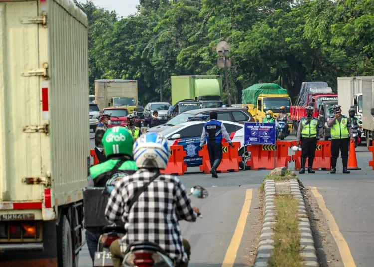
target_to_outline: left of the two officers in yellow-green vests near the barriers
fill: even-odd
[[[301,170],[300,174],[305,173],[305,163],[308,158],[308,173],[316,173],[313,170],[313,160],[317,148],[317,140],[323,135],[322,125],[317,118],[312,117],[314,108],[306,107],[307,116],[300,119],[299,127],[296,134],[296,144],[301,140]],[[301,136],[301,138],[300,138]]]

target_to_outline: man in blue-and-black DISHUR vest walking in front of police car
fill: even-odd
[[[204,124],[202,129],[200,149],[204,146],[205,142],[208,144],[209,160],[210,160],[210,173],[213,178],[218,178],[217,168],[222,160],[222,139],[223,137],[234,147],[230,136],[227,133],[226,127],[220,121],[217,121],[218,114],[213,111],[209,114],[210,121]]]

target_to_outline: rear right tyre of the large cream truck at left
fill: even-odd
[[[73,246],[71,228],[65,215],[62,215],[57,228],[57,255],[59,267],[73,266]]]

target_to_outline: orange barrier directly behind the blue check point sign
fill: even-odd
[[[279,167],[288,167],[288,162],[292,157],[288,155],[292,141],[276,141],[276,144],[252,144],[248,146],[251,152],[251,159],[247,161],[247,166],[251,170],[272,170]]]

